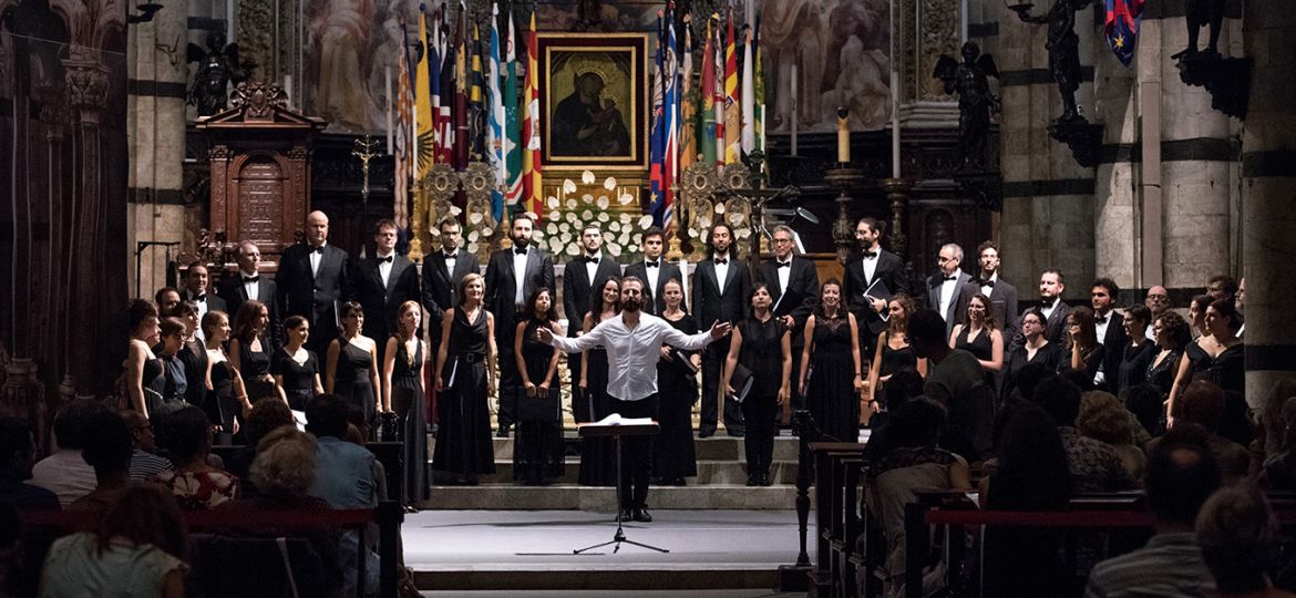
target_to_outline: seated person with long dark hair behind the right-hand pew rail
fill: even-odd
[[[1019,409],[1003,431],[999,467],[981,479],[981,504],[997,511],[1060,511],[1072,497],[1072,474],[1058,423],[1036,405]],[[1055,595],[1065,579],[1056,529],[988,527],[986,597]]]

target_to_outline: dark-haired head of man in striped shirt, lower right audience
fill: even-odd
[[[1191,527],[1201,505],[1220,488],[1220,465],[1196,441],[1177,441],[1172,436],[1175,430],[1148,454],[1143,485],[1159,522]]]

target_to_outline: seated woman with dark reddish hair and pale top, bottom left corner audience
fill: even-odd
[[[170,494],[154,485],[132,485],[104,513],[95,532],[54,541],[40,595],[180,598],[188,571],[184,536],[180,509]]]

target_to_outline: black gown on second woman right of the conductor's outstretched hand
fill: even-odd
[[[806,406],[819,430],[842,443],[859,439],[859,395],[850,353],[850,321],[815,316]]]

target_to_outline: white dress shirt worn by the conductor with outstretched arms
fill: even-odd
[[[697,351],[712,342],[712,331],[688,335],[665,320],[639,313],[639,325],[626,326],[625,316],[599,322],[577,338],[553,337],[553,346],[579,353],[597,346],[608,351],[608,393],[622,401],[638,401],[657,392],[657,361],[662,343],[684,351]]]

